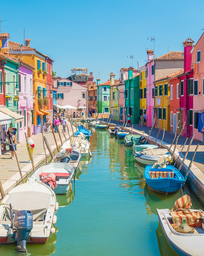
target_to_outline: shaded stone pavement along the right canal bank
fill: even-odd
[[[100,119],[99,119],[100,121]],[[107,122],[107,118],[104,118],[104,121],[103,122]],[[117,121],[115,120],[111,120],[110,123],[113,123],[113,124],[116,124]],[[123,126],[123,122],[119,122],[119,126]],[[128,125],[126,126],[128,127]],[[130,124],[130,128],[132,128],[132,124]],[[141,127],[140,124],[134,124],[133,125],[133,129],[136,129],[136,130],[139,130],[140,132],[145,132],[144,135],[148,136],[149,135],[149,132],[151,130],[152,127]],[[157,134],[159,132],[159,129],[157,128],[154,128],[152,129],[152,132],[150,134],[150,136],[152,137],[157,137]],[[165,131],[164,133],[164,140],[163,140],[163,143],[167,143],[167,144],[171,144],[172,143],[172,140],[174,139],[174,136],[175,134],[169,132],[169,131]],[[163,130],[160,130],[160,133],[159,133],[159,136],[158,136],[158,139],[159,140],[162,140],[162,137],[163,137]],[[185,137],[182,137],[180,136],[179,139],[178,139],[178,144],[176,146],[176,148],[180,151],[183,147],[183,144],[185,143],[186,141],[186,138]],[[182,154],[185,155],[186,154],[186,150],[188,148],[188,145],[189,145],[189,142],[191,141],[191,138],[189,138],[186,142],[186,145],[185,145],[185,148],[183,149],[182,151]],[[174,143],[176,142],[176,139],[174,141]],[[193,153],[196,149],[196,146],[197,144],[199,143],[199,147],[198,147],[198,150],[197,150],[197,153],[196,153],[196,156],[194,158],[194,165],[196,165],[203,173],[204,173],[204,142],[200,141],[200,140],[196,140],[194,139],[192,144],[191,144],[191,148],[189,150],[189,153],[187,155],[187,158],[189,160],[191,160],[192,156],[193,156]],[[174,144],[173,144],[174,145]],[[173,147],[173,146],[172,146]],[[171,148],[172,149],[172,148]]]

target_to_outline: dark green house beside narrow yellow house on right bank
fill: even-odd
[[[131,123],[137,123],[140,117],[140,74],[132,77],[132,69],[128,70],[128,79],[125,80],[125,108],[130,114]]]

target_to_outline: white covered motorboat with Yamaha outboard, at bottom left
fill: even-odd
[[[0,204],[0,244],[13,244],[16,239],[16,250],[24,253],[26,242],[45,244],[50,233],[55,233],[52,225],[57,221],[57,209],[55,193],[44,183],[16,186]]]

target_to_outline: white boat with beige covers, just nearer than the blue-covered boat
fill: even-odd
[[[81,139],[81,137],[72,137],[71,140],[67,140],[63,143],[60,151],[64,151],[68,148],[78,151],[82,157],[87,157],[89,155],[90,144],[87,139]]]

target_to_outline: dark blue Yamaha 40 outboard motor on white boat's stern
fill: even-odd
[[[29,210],[21,210],[13,213],[10,204],[11,212],[11,228],[13,229],[13,240],[16,244],[15,251],[27,253],[26,239],[33,228],[33,214]]]

